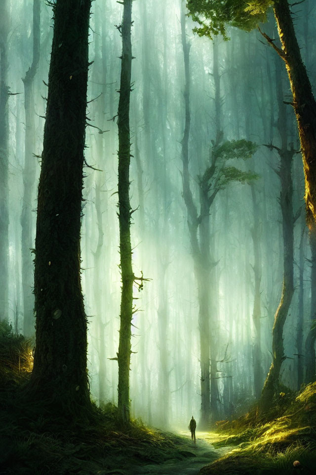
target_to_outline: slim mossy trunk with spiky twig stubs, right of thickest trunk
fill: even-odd
[[[118,345],[118,411],[122,421],[127,423],[130,418],[129,366],[134,282],[130,241],[131,207],[129,202],[132,0],[124,0],[123,8],[123,20],[119,27],[122,35],[122,55],[118,103],[118,220],[120,271],[122,276]]]

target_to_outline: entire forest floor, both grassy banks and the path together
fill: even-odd
[[[316,473],[316,382],[282,389],[269,414],[256,408],[213,432],[163,432],[132,421],[117,408],[92,406],[92,417],[57,416],[23,387],[32,351],[0,322],[0,475],[302,475]],[[293,462],[301,468],[294,469]]]

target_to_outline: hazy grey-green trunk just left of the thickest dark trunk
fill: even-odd
[[[33,1],[33,61],[22,79],[24,84],[25,109],[25,161],[23,168],[23,201],[21,214],[22,228],[22,291],[23,291],[23,330],[25,336],[34,333],[33,297],[33,255],[32,199],[36,178],[37,159],[34,156],[36,145],[35,110],[33,83],[40,61],[40,0]]]

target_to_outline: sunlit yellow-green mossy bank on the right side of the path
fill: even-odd
[[[221,422],[217,429],[215,447],[236,448],[224,457],[204,467],[201,474],[291,474],[293,462],[299,460],[304,474],[315,473],[316,466],[316,382],[294,395],[282,399],[274,418],[259,417],[253,408],[233,422]],[[281,415],[280,415],[281,414]],[[212,433],[214,437],[214,433]]]

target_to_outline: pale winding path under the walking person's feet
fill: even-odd
[[[183,450],[194,454],[193,457],[182,460],[171,459],[159,465],[147,464],[134,467],[134,475],[197,475],[202,467],[214,462],[230,450],[230,447],[215,449],[212,446],[212,434],[209,432],[197,431],[196,444],[192,441],[191,435],[188,435],[188,431],[179,431],[177,435],[184,438]]]

